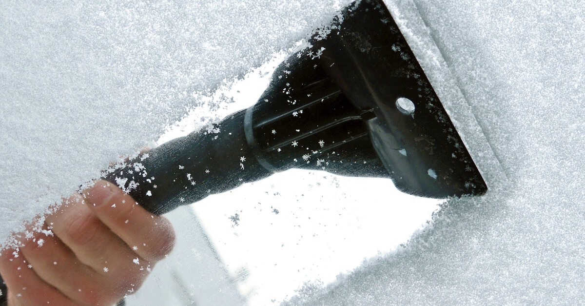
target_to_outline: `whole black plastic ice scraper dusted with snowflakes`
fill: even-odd
[[[309,43],[254,106],[105,178],[157,214],[290,168],[390,178],[429,198],[487,191],[382,1],[350,4]]]

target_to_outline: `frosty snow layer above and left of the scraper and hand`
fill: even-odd
[[[0,240],[347,1],[2,1]]]

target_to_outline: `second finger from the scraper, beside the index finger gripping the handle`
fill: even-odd
[[[143,278],[146,271],[130,265],[134,259],[146,263],[85,205],[81,195],[74,195],[45,222],[54,234],[75,254],[81,263],[108,277]],[[113,274],[113,275],[112,275]]]

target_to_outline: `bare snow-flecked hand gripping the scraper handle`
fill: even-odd
[[[46,217],[44,233],[31,229],[17,235],[19,249],[0,255],[9,305],[115,304],[174,244],[165,217],[106,181],[65,200]]]

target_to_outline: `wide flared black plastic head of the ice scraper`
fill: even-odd
[[[267,144],[260,145],[257,156],[268,167],[285,166],[276,160],[281,154],[274,154],[285,141],[270,134],[272,127],[284,125],[294,127],[284,137],[287,141],[304,140],[300,150],[287,148],[288,155],[300,155],[307,145],[321,156],[335,151],[329,145],[337,152],[355,152],[359,150],[350,147],[356,147],[356,138],[369,138],[385,173],[401,191],[429,198],[486,192],[472,158],[383,2],[355,2],[333,23],[330,33],[315,35],[310,43],[309,49],[280,65],[270,88],[249,110],[254,138],[261,138],[256,142]],[[298,118],[291,116],[295,112]],[[331,126],[323,131],[326,125]],[[345,132],[349,137],[340,135]],[[317,145],[317,138],[327,146]],[[339,148],[332,141],[353,143]],[[367,144],[359,143],[365,154]],[[360,154],[355,158],[360,159]],[[356,162],[359,166],[353,169],[339,169],[340,165],[324,169],[384,176],[379,169]]]

